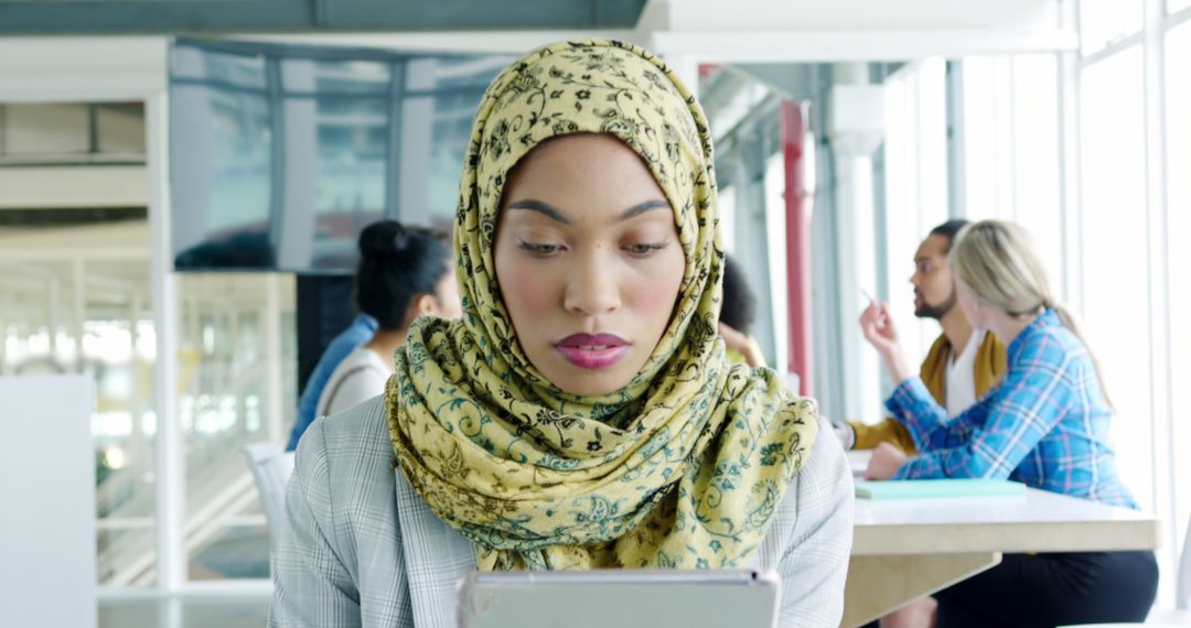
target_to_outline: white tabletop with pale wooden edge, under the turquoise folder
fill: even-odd
[[[856,500],[853,555],[1158,547],[1158,520],[1028,489],[1024,496]]]

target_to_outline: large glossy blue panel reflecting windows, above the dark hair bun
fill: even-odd
[[[176,268],[349,274],[366,225],[449,224],[472,117],[506,62],[176,44]]]

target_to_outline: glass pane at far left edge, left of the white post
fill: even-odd
[[[144,137],[139,102],[0,103],[0,177],[14,183],[0,183],[0,376],[94,378],[96,578],[106,585],[156,582],[146,571],[157,505],[148,189],[139,206],[80,207],[70,195],[57,207],[54,188],[88,182],[94,199],[136,197],[113,193],[126,177],[105,175],[143,175]]]

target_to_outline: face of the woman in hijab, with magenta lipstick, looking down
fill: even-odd
[[[534,149],[510,175],[497,278],[525,356],[578,395],[615,391],[661,339],[686,259],[649,169],[611,136]]]

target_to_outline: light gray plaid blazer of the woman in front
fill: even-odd
[[[782,578],[779,624],[840,624],[852,548],[852,472],[821,421],[753,566]],[[298,446],[273,557],[270,627],[454,628],[466,538],[394,470],[382,397],[317,420]]]

